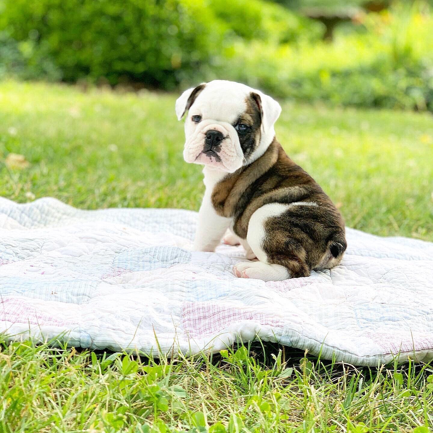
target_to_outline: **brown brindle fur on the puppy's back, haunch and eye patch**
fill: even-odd
[[[248,134],[239,134],[246,155],[259,143],[262,118],[260,105],[251,95],[247,107],[241,118],[251,128]],[[275,138],[260,158],[228,174],[216,184],[212,194],[216,212],[233,218],[233,231],[242,239],[246,239],[249,220],[259,207],[295,202],[317,206],[293,206],[268,218],[262,248],[269,263],[285,266],[291,277],[305,277],[325,255],[335,258],[334,263],[341,260],[346,250],[344,222],[322,188],[286,155]]]

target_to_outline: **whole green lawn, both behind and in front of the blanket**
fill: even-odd
[[[200,167],[182,158],[175,99],[0,83],[0,195],[53,196],[85,209],[197,210],[204,187]],[[431,114],[282,107],[278,138],[348,226],[433,241]],[[260,343],[158,362],[0,344],[0,433],[427,433],[433,426],[430,365],[357,369]]]

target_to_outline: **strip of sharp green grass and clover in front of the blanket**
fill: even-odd
[[[258,343],[158,362],[29,342],[2,349],[5,433],[428,433],[433,425],[429,365],[356,369]]]

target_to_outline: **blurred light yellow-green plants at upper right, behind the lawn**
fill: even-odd
[[[357,19],[361,30],[336,32],[332,43],[235,44],[227,56],[228,77],[309,102],[433,111],[433,15],[427,3],[401,3]]]

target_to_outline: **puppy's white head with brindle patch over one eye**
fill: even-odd
[[[176,101],[185,121],[186,162],[233,173],[261,156],[275,136],[280,104],[259,90],[215,80],[185,90]]]

